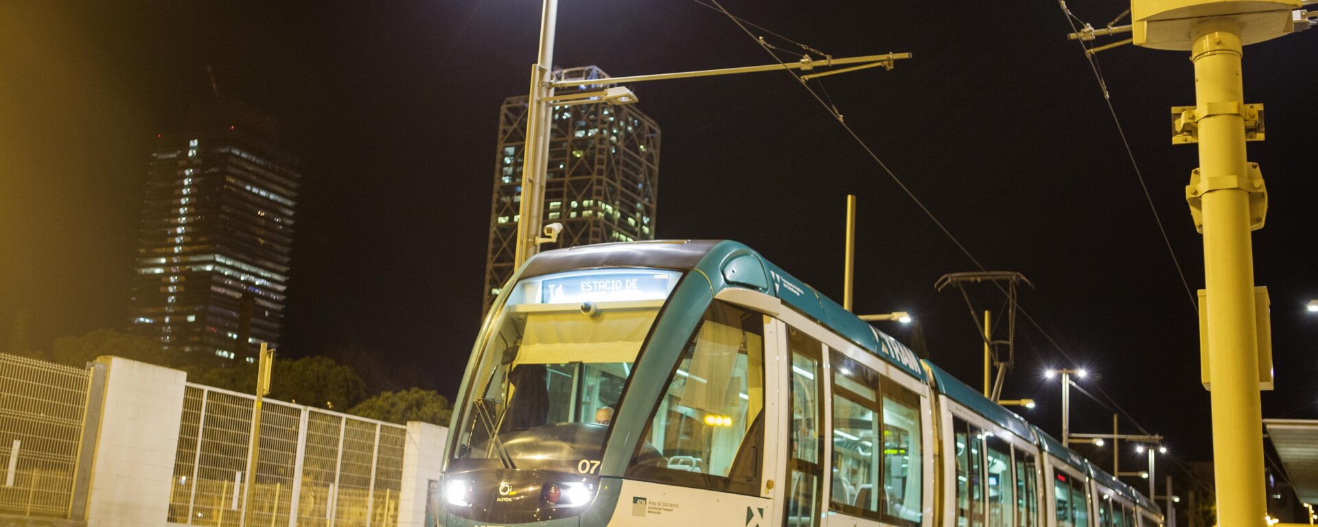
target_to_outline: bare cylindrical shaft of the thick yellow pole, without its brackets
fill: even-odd
[[[1198,107],[1231,103],[1244,107],[1240,22],[1231,18],[1199,22],[1193,41]],[[1249,191],[1242,187],[1249,174],[1244,119],[1239,112],[1207,115],[1199,119],[1198,128],[1218,522],[1249,526],[1263,520],[1267,505]]]

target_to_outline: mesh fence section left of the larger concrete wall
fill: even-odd
[[[0,354],[0,513],[67,518],[87,369]]]

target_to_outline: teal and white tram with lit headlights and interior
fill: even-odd
[[[1159,507],[734,241],[540,253],[455,404],[459,526],[1153,527]]]

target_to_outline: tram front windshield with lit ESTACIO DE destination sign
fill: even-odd
[[[593,269],[514,285],[482,336],[451,469],[594,472],[637,354],[680,277]]]

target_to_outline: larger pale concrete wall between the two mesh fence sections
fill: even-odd
[[[96,362],[107,379],[87,526],[165,526],[187,374],[120,357]]]

